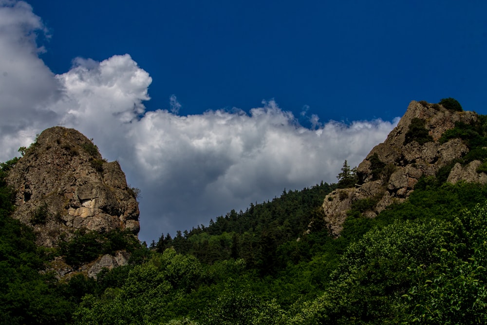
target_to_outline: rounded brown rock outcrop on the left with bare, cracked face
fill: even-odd
[[[14,218],[32,225],[37,244],[54,247],[76,229],[139,232],[139,209],[118,162],[106,162],[74,129],[42,132],[9,173],[16,191]]]

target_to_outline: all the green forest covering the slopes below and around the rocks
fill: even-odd
[[[469,153],[374,219],[353,206],[338,238],[320,207],[355,180],[347,162],[337,184],[284,190],[174,238],[146,245],[123,232],[81,231],[57,249],[37,247],[32,229],[11,218],[4,178],[17,160],[2,163],[0,323],[485,324],[487,186],[445,175],[474,159],[486,172],[486,121],[446,132],[441,141],[459,137]],[[129,265],[96,280],[58,281],[48,268],[56,256],[75,266],[117,249],[131,252]]]

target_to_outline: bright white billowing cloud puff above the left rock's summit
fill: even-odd
[[[57,111],[75,126],[132,122],[145,111],[142,101],[150,99],[152,79],[128,54],[102,62],[76,58],[72,69],[56,79],[65,90]],[[67,103],[72,106],[66,112]]]

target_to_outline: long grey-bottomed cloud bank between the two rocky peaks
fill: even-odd
[[[396,122],[396,121],[395,121]],[[143,184],[143,207],[156,233],[207,224],[209,218],[250,202],[336,182],[345,159],[357,165],[395,122],[349,125],[330,121],[301,127],[275,101],[243,111],[178,116],[147,112],[130,130],[133,166]],[[157,218],[155,216],[158,216]],[[142,223],[144,225],[144,223]]]

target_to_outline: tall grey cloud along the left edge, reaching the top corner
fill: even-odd
[[[42,49],[35,41],[45,32],[29,4],[0,1],[0,145],[9,157],[39,126],[56,119],[47,104],[59,96],[61,85],[38,57]]]

